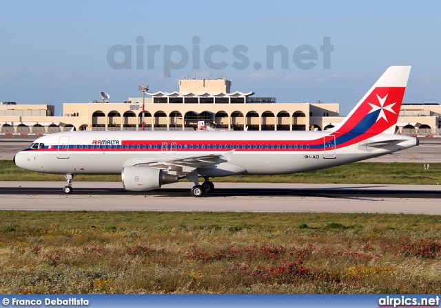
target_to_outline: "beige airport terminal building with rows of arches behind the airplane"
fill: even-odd
[[[5,102],[0,104],[0,133],[139,131],[143,126],[149,131],[182,131],[198,129],[202,120],[213,129],[231,131],[309,131],[332,128],[344,118],[338,103],[277,103],[276,98],[254,97],[254,92],[231,93],[231,85],[225,78],[181,79],[179,91],[143,89],[147,97],[121,103],[64,103],[59,116],[52,105]],[[403,104],[397,125],[407,135],[439,135],[441,105]]]

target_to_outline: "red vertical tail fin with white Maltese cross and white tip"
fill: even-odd
[[[394,130],[410,70],[410,66],[389,67],[333,131],[377,135]]]

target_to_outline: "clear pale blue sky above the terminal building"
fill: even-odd
[[[1,1],[0,12],[0,101],[56,113],[101,91],[110,102],[141,96],[142,84],[177,91],[196,73],[277,102],[340,102],[346,115],[391,65],[412,65],[404,102],[441,101],[440,1]],[[280,53],[268,66],[276,45],[285,67]],[[309,69],[294,61],[305,48]]]

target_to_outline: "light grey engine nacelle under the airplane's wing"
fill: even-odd
[[[178,181],[177,175],[164,173],[160,168],[142,166],[124,167],[121,178],[124,189],[132,191],[152,190]]]

